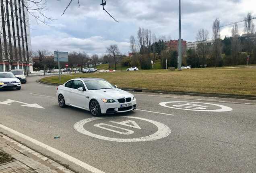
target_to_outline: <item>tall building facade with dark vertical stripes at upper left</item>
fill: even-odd
[[[0,72],[33,71],[31,38],[26,0],[0,0]]]

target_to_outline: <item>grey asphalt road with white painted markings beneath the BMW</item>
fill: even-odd
[[[21,91],[0,91],[0,125],[97,170],[104,173],[256,172],[256,101],[133,93],[138,110],[78,124],[93,117],[84,110],[60,108],[56,87],[39,84],[38,78],[29,77]],[[9,105],[4,105],[5,101]],[[163,102],[175,103],[163,106]],[[38,104],[44,109],[27,104]],[[74,128],[75,124],[80,132]],[[75,171],[91,172],[20,135],[2,128],[0,131]],[[55,136],[60,138],[54,139]]]

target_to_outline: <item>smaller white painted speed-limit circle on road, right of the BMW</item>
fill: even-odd
[[[172,106],[167,106],[167,104],[173,103]],[[232,111],[233,109],[223,105],[217,105],[213,103],[200,103],[200,102],[186,102],[186,101],[170,101],[170,102],[162,102],[159,105],[167,108],[173,109],[181,109],[187,111],[203,111],[203,112],[227,112]],[[208,106],[211,105],[215,107],[220,107],[221,109],[211,109]]]

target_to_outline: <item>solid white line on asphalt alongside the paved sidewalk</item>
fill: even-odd
[[[41,143],[40,141],[37,141],[37,140],[35,140],[31,137],[28,137],[28,136],[26,136],[22,133],[19,133],[19,132],[13,130],[13,129],[10,129],[10,128],[4,126],[4,125],[0,124],[0,128],[4,129],[4,130],[6,130],[10,133],[13,133],[14,135],[17,135],[17,136],[19,136],[19,137],[21,137],[21,138],[23,138],[27,141],[30,141],[31,143],[33,143],[35,145],[38,145],[38,146],[40,146],[40,147],[42,147],[42,148],[44,148],[48,151],[51,151],[52,153],[54,153],[56,155],[59,155],[60,157],[63,157],[64,159],[66,159],[66,160],[68,160],[68,161],[70,161],[70,162],[72,162],[72,163],[74,163],[74,164],[76,164],[80,167],[83,167],[84,169],[87,169],[88,171],[91,171],[92,173],[104,173],[103,171],[101,171],[101,170],[99,170],[99,169],[97,169],[97,168],[95,168],[91,165],[88,165],[87,163],[84,163],[84,162],[82,162],[82,161],[80,161],[80,160],[78,160],[78,159],[76,159],[76,158],[74,158],[70,155],[67,155],[66,153],[63,153],[62,151],[59,151],[59,150],[57,150],[53,147],[50,147],[49,145]]]

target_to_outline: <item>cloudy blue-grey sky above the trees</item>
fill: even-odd
[[[47,22],[50,26],[30,18],[33,50],[103,54],[117,44],[127,54],[129,37],[136,36],[138,27],[150,29],[157,38],[178,39],[178,0],[107,0],[105,8],[120,23],[102,11],[101,0],[80,0],[80,8],[73,1],[61,16],[69,0],[48,0],[45,15],[54,18]],[[255,17],[255,7],[256,0],[182,0],[182,39],[195,41],[200,28],[209,30],[211,39],[215,18],[221,25],[241,21],[248,12]],[[240,34],[243,26],[239,24]],[[221,36],[231,35],[231,27],[222,28]]]

